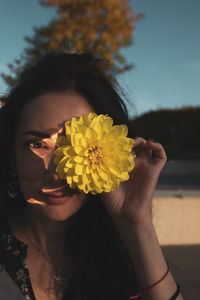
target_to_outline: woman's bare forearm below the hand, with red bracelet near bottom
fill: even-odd
[[[139,289],[143,290],[158,282],[166,273],[167,263],[151,218],[142,223],[120,222],[115,225],[130,254]],[[148,300],[170,299],[175,290],[176,282],[169,272],[164,280],[143,298]]]

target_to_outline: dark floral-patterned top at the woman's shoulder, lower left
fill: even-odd
[[[27,245],[19,241],[4,223],[0,227],[0,264],[22,291],[25,299],[36,300],[26,265]]]

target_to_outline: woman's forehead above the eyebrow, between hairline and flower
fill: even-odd
[[[19,127],[21,130],[43,130],[51,134],[63,128],[65,121],[90,112],[94,112],[93,108],[78,94],[45,94],[26,105]]]

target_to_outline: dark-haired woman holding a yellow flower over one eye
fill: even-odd
[[[128,125],[119,94],[107,63],[49,54],[1,109],[0,263],[26,299],[183,299],[150,212],[162,146],[136,138],[130,179],[109,193],[70,189],[55,171],[66,120],[95,112]]]

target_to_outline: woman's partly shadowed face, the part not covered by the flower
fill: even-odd
[[[24,108],[15,141],[15,166],[20,189],[29,202],[48,219],[63,221],[85,203],[85,195],[72,190],[55,172],[53,151],[64,123],[94,112],[76,93],[49,93],[31,100]]]

